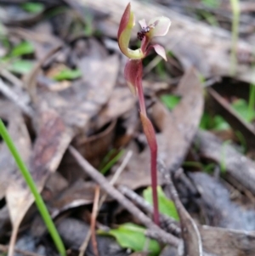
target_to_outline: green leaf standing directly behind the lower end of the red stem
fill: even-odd
[[[145,201],[149,202],[150,205],[153,205],[151,187],[148,187],[146,190],[144,190],[143,196]],[[161,186],[157,186],[157,196],[160,213],[172,217],[173,219],[179,220],[178,213],[173,201],[167,198],[167,196],[162,191]]]

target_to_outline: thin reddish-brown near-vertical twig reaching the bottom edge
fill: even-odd
[[[93,204],[92,215],[90,220],[91,241],[92,241],[95,256],[99,256],[98,242],[95,234],[95,224],[96,224],[96,219],[97,219],[98,210],[99,210],[99,196],[100,196],[100,187],[99,185],[97,185],[94,191],[94,204]]]

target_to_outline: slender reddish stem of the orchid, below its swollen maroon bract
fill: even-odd
[[[140,117],[144,128],[144,134],[150,146],[150,178],[152,188],[152,201],[153,201],[153,219],[156,225],[159,225],[159,209],[157,200],[157,170],[156,170],[156,158],[157,158],[157,144],[156,134],[150,119],[147,117],[145,102],[144,102],[144,90],[142,86],[141,78],[137,81],[137,91],[139,96]]]

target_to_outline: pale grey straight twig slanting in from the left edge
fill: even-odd
[[[20,96],[15,94],[14,91],[12,91],[8,86],[3,82],[3,80],[0,78],[0,91],[8,98],[8,100],[11,100],[14,102],[15,105],[17,105],[21,111],[23,111],[28,117],[34,116],[34,111],[29,105],[26,105],[26,103],[20,99]]]

